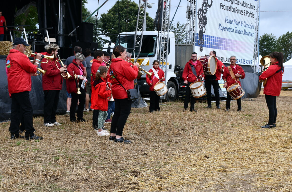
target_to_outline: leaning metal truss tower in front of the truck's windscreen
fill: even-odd
[[[138,9],[138,18],[137,18],[137,25],[136,25],[136,31],[135,31],[135,47],[134,47],[134,60],[137,61],[140,52],[141,52],[141,46],[142,46],[142,39],[143,39],[143,32],[146,30],[146,9],[147,9],[147,0],[139,0],[139,9]],[[140,34],[141,33],[141,34]],[[137,54],[137,57],[135,58],[135,51]]]

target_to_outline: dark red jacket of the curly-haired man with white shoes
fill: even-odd
[[[43,55],[50,55],[48,53],[41,53]],[[47,70],[46,74],[43,75],[43,90],[62,90],[63,78],[61,76],[61,71],[57,68],[55,61],[58,58],[55,58],[53,61],[49,60],[48,63],[42,63],[41,68]],[[42,62],[46,62],[47,59],[42,59]],[[58,67],[61,65],[57,62]]]

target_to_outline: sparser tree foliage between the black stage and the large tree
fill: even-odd
[[[84,21],[86,18],[88,18],[89,15],[91,15],[91,12],[85,8],[85,4],[88,3],[87,0],[82,0],[82,21]],[[95,38],[96,38],[96,42],[98,43],[99,47],[102,48],[102,46],[105,44],[105,42],[107,41],[106,39],[103,39],[101,36],[98,36],[95,34],[100,34],[101,33],[101,21],[100,19],[97,20],[95,25],[95,20],[96,18],[91,16],[90,18],[88,18],[88,20],[86,20],[86,22],[89,23],[93,23],[93,42],[95,42]]]

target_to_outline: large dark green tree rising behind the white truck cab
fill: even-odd
[[[102,13],[102,33],[119,34],[136,30],[138,5],[130,0],[117,1],[107,13]],[[119,22],[120,20],[120,22]],[[146,13],[146,30],[153,30],[153,19]],[[108,35],[116,39],[117,35]]]

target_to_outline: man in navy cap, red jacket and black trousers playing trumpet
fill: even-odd
[[[36,55],[36,61],[32,64],[29,58],[24,54],[25,47],[29,46],[22,38],[15,38],[13,47],[9,51],[6,59],[6,70],[8,80],[8,92],[11,94],[11,118],[9,131],[10,139],[19,138],[19,125],[23,117],[23,125],[25,130],[25,139],[43,139],[34,135],[34,127],[32,123],[32,104],[29,98],[29,91],[32,89],[31,76],[36,76],[36,69],[41,59],[41,54]]]

